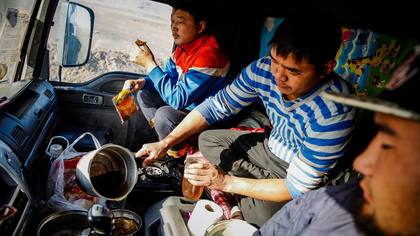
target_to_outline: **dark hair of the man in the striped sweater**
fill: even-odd
[[[319,10],[299,10],[279,25],[270,46],[277,55],[290,53],[300,62],[306,58],[321,72],[323,65],[334,60],[341,44],[341,27],[335,17]]]

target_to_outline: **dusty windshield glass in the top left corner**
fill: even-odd
[[[15,79],[18,63],[21,60],[20,51],[34,2],[31,0],[0,1],[0,88]]]

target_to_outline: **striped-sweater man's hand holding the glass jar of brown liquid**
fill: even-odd
[[[184,177],[193,185],[224,191],[228,175],[207,159],[200,159],[200,161],[186,165]]]

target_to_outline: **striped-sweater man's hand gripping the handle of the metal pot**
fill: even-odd
[[[168,145],[163,141],[146,143],[143,144],[142,148],[136,153],[136,157],[144,159],[143,166],[147,166],[160,160],[165,156],[167,151]]]

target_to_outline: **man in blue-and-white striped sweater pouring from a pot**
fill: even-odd
[[[200,104],[165,139],[145,144],[145,163],[214,122],[236,114],[258,97],[272,124],[264,133],[209,130],[200,151],[209,163],[191,164],[184,177],[246,196],[246,221],[262,225],[286,201],[321,184],[343,156],[355,110],[324,99],[323,91],[352,93],[333,72],[341,30],[328,15],[303,12],[286,18],[271,40],[270,56],[246,67],[233,83]]]

